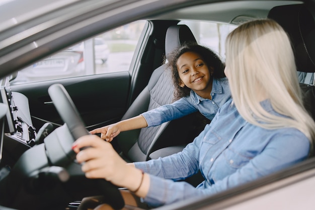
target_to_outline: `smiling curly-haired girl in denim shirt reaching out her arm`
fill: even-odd
[[[111,142],[121,131],[151,127],[199,111],[212,120],[219,107],[230,99],[224,64],[209,48],[185,44],[169,58],[175,85],[175,102],[144,112],[139,116],[94,129]]]

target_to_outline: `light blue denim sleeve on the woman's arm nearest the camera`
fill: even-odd
[[[302,133],[298,135],[296,132],[294,135],[290,132],[278,133],[261,154],[222,180],[214,181],[208,187],[202,185],[202,187],[194,188],[186,182],[175,182],[171,179],[164,179],[163,176],[150,174],[149,191],[143,200],[149,205],[160,206],[194,196],[209,196],[300,162],[307,158],[309,147],[309,141]]]

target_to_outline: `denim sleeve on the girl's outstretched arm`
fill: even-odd
[[[178,119],[198,111],[189,99],[189,97],[184,97],[172,104],[166,104],[155,109],[151,109],[141,115],[145,118],[148,127],[160,125],[164,122]]]

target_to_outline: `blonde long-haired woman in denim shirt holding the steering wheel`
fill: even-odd
[[[212,195],[309,157],[315,124],[302,105],[289,38],[276,22],[248,22],[227,36],[225,75],[233,99],[182,152],[126,164],[109,143],[88,135],[73,144],[86,176],[128,188],[127,204],[142,197],[155,207]],[[205,181],[196,188],[176,182],[198,170]]]

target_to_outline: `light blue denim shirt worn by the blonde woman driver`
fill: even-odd
[[[269,100],[261,102],[276,113]],[[308,138],[296,128],[265,129],[247,122],[231,100],[205,129],[177,154],[135,163],[149,174],[150,187],[143,201],[151,206],[194,196],[207,196],[266,176],[307,158]],[[175,182],[200,169],[205,180],[196,188]]]

